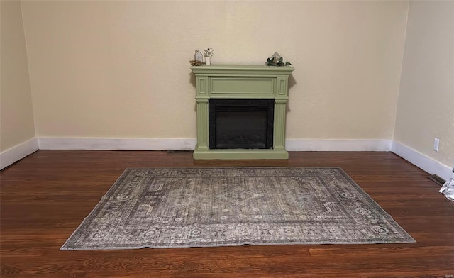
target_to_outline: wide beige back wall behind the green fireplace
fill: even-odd
[[[23,1],[37,136],[195,138],[194,50],[292,62],[287,138],[392,139],[407,1]]]

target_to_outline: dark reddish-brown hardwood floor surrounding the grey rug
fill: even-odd
[[[60,251],[126,167],[342,167],[417,243]],[[1,277],[453,277],[454,202],[391,152],[291,152],[194,161],[192,152],[39,150],[1,171]]]

